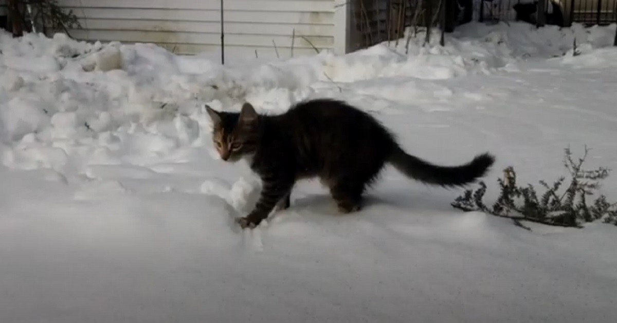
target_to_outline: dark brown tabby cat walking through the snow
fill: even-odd
[[[236,218],[254,228],[271,211],[287,209],[297,180],[318,177],[340,212],[362,208],[363,194],[386,163],[423,183],[458,187],[489,171],[495,157],[479,154],[460,166],[436,166],[411,156],[395,136],[370,114],[336,99],[310,99],[284,114],[257,114],[251,103],[240,112],[205,106],[212,120],[212,141],[223,161],[246,159],[262,180],[254,209]]]

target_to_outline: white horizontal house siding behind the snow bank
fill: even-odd
[[[259,57],[345,51],[341,0],[224,0],[225,52]],[[220,51],[220,0],[59,0],[80,17],[80,40],[144,42],[178,54]],[[339,29],[339,31],[336,30]],[[341,31],[342,30],[342,31]],[[292,35],[295,33],[295,38]],[[335,44],[334,35],[342,36]],[[315,48],[313,48],[315,46]]]

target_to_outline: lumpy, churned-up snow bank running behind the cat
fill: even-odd
[[[427,45],[420,31],[409,40],[345,56],[323,52],[226,67],[200,55],[175,56],[154,44],[85,43],[62,34],[13,39],[2,32],[0,150],[10,152],[6,166],[27,169],[57,169],[64,160],[75,172],[120,159],[143,164],[207,146],[205,103],[233,110],[251,101],[261,112],[276,114],[300,99],[342,95],[354,104],[368,99],[365,108],[373,112],[394,112],[392,102],[449,111],[447,105],[459,96],[471,101],[485,96],[458,94],[438,81],[515,71],[521,62],[553,57],[581,67],[613,64],[613,50],[602,48],[614,32],[615,25],[536,30],[526,23],[471,23],[447,35],[444,47],[436,44],[437,31]],[[574,38],[581,56],[571,54]],[[434,102],[443,104],[421,107]],[[31,153],[51,148],[70,157],[41,163],[45,154]],[[18,159],[22,166],[15,164]]]

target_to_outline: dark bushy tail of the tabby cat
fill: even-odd
[[[438,166],[407,154],[399,146],[395,146],[389,162],[403,174],[420,182],[457,187],[473,183],[483,177],[495,162],[495,157],[484,153],[460,166]]]

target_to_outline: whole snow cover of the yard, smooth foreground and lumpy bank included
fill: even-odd
[[[225,69],[0,34],[0,322],[613,322],[614,226],[529,232],[391,168],[362,212],[305,182],[242,232],[259,185],[216,158],[203,104],[346,99],[430,161],[492,151],[489,190],[508,165],[525,183],[563,175],[568,145],[617,169],[615,28],[470,25],[407,55],[402,41]]]

